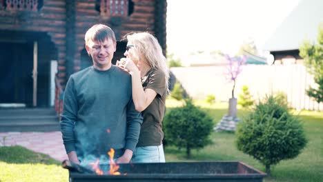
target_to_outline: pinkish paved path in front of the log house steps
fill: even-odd
[[[58,161],[68,159],[61,132],[0,132],[0,146],[3,145],[21,145]]]

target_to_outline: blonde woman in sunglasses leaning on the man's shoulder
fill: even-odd
[[[132,77],[133,102],[142,113],[139,141],[133,154],[133,163],[165,162],[161,121],[164,118],[168,94],[169,70],[157,39],[148,32],[127,36],[124,56],[117,65]]]

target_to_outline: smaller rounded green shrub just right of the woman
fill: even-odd
[[[211,143],[209,135],[213,131],[213,120],[190,99],[186,99],[182,107],[170,110],[163,123],[167,144],[185,148],[188,158],[192,149]]]

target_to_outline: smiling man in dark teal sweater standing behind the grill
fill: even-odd
[[[60,124],[68,159],[101,158],[113,148],[117,163],[129,163],[142,123],[131,77],[111,63],[117,43],[108,26],[92,26],[85,42],[93,66],[72,74],[64,92]]]

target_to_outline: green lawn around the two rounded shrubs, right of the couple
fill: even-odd
[[[167,108],[178,107],[182,103],[168,101]],[[215,125],[226,114],[228,103],[216,103],[209,105],[204,101],[195,101],[196,105],[203,108],[214,118]],[[248,114],[248,110],[238,107],[238,117]],[[271,182],[316,182],[323,179],[323,113],[314,111],[292,111],[302,119],[306,137],[309,139],[306,148],[295,159],[281,161],[272,166],[272,176],[264,181]],[[211,134],[213,144],[202,150],[193,150],[192,158],[185,158],[185,151],[179,151],[173,146],[166,147],[166,161],[242,161],[253,168],[266,171],[266,168],[253,159],[237,150],[235,147],[235,134],[233,132],[213,132]]]

